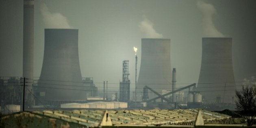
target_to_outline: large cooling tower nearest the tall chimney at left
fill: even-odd
[[[38,82],[45,100],[86,100],[78,58],[78,29],[45,29],[44,56]]]

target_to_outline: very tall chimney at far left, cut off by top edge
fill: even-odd
[[[24,0],[23,5],[23,77],[32,89],[34,58],[34,0]]]

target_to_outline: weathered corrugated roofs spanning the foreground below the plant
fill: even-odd
[[[45,110],[45,111],[33,111],[33,112],[20,112],[14,113],[12,115],[7,115],[2,117],[1,121],[7,121],[5,123],[11,123],[14,121],[9,118],[18,118],[24,116],[24,113],[30,113],[29,116],[33,116],[36,120],[40,119],[57,119],[61,120],[63,124],[71,123],[78,124],[79,126],[95,127],[102,124],[102,120],[110,117],[113,126],[120,125],[168,125],[168,124],[184,124],[188,122],[195,122],[198,109],[176,109],[176,110],[166,110],[166,109],[151,109],[151,110]],[[228,115],[201,110],[202,118],[204,121],[210,120],[221,120],[221,119],[230,119]],[[107,113],[107,114],[106,114]],[[104,115],[105,114],[105,115]],[[14,116],[15,115],[15,116]],[[26,116],[25,116],[26,117]],[[24,117],[23,117],[24,118]],[[9,121],[8,121],[9,120]],[[18,119],[16,119],[18,120]],[[104,120],[103,120],[104,121]],[[33,121],[32,121],[33,122]]]

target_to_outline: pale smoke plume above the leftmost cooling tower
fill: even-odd
[[[72,28],[67,21],[67,17],[61,13],[51,13],[45,3],[41,4],[41,13],[46,28]]]

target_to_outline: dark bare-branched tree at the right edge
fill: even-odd
[[[236,98],[236,110],[241,111],[241,114],[247,121],[247,126],[252,126],[256,123],[255,86],[246,86],[241,91],[236,91]]]

